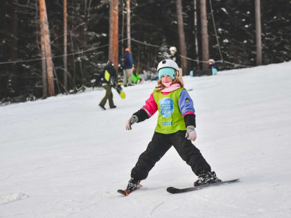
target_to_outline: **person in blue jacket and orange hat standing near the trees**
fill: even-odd
[[[126,57],[126,62],[122,63],[122,59]],[[133,66],[133,61],[132,61],[132,54],[130,53],[130,48],[125,48],[124,54],[121,56],[119,60],[119,64],[121,64],[123,68],[123,85],[127,87],[127,74],[129,75],[128,78],[128,85],[132,85],[132,66]]]

